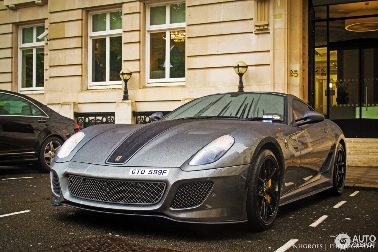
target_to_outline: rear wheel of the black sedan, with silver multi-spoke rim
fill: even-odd
[[[38,156],[38,171],[41,173],[50,173],[50,163],[62,144],[63,141],[58,137],[49,137],[43,142]],[[53,151],[51,151],[51,148]]]

